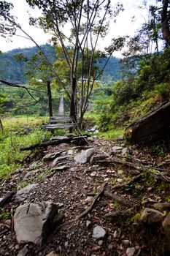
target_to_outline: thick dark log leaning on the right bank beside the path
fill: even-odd
[[[133,143],[150,143],[168,138],[170,132],[170,102],[136,119],[125,129],[125,137]]]

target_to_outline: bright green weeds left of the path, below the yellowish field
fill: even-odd
[[[28,154],[20,151],[20,148],[42,142],[50,136],[50,132],[45,132],[39,127],[27,135],[23,135],[21,127],[4,127],[4,135],[0,137],[0,179],[9,176],[13,170],[20,167],[20,162]]]

